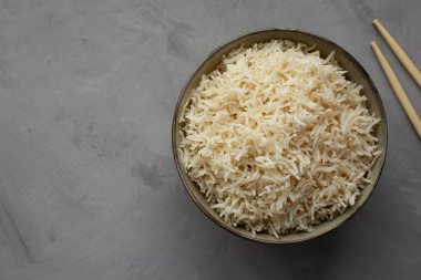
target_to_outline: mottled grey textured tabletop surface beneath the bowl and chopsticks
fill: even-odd
[[[421,145],[369,48],[371,19],[421,65],[421,1],[0,0],[0,279],[421,279]],[[171,118],[218,44],[292,27],[372,75],[389,122],[380,184],[319,239],[265,246],[209,221],[183,189]]]

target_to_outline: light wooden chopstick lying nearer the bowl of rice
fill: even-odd
[[[380,65],[383,68],[386,75],[389,79],[390,84],[392,85],[394,93],[398,96],[399,102],[401,103],[403,110],[407,112],[409,120],[412,122],[413,127],[418,133],[418,136],[421,138],[421,120],[417,114],[417,111],[412,106],[411,101],[408,98],[407,93],[403,91],[401,83],[399,82],[397,75],[394,74],[389,62],[386,60],[383,53],[381,52],[379,45],[372,41],[371,48],[380,62]]]

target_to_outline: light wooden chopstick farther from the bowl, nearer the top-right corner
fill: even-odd
[[[372,24],[377,28],[380,34],[384,38],[386,42],[388,42],[390,49],[394,52],[398,59],[401,61],[403,66],[408,70],[408,72],[412,75],[413,80],[421,86],[421,72],[418,70],[415,64],[411,61],[408,54],[402,50],[402,48],[398,44],[398,42],[391,37],[391,34],[383,28],[379,20],[374,19]]]

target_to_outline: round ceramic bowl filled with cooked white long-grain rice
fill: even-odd
[[[196,69],[172,144],[207,217],[239,237],[289,243],[337,228],[367,201],[387,121],[370,76],[341,46],[270,29],[223,44]]]

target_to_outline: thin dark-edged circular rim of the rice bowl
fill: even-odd
[[[275,239],[275,240],[268,240],[268,239],[264,239],[264,238],[257,238],[258,237],[258,232],[256,234],[255,237],[251,237],[251,236],[248,236],[248,235],[244,235],[230,227],[228,227],[227,224],[225,222],[222,222],[220,220],[218,220],[217,218],[215,218],[194,196],[193,191],[189,189],[188,185],[187,185],[187,182],[186,179],[184,178],[184,176],[182,175],[182,164],[181,164],[181,160],[179,160],[179,157],[178,157],[178,154],[177,154],[177,146],[176,146],[176,134],[177,134],[177,131],[176,131],[176,127],[177,127],[177,115],[179,113],[179,110],[182,108],[182,100],[184,97],[185,94],[188,94],[186,93],[186,90],[191,83],[191,81],[193,80],[194,76],[196,76],[197,72],[201,70],[201,68],[209,60],[212,59],[213,56],[217,55],[218,52],[220,51],[220,49],[225,48],[226,45],[230,44],[230,43],[234,43],[238,40],[242,40],[246,37],[249,37],[249,35],[255,35],[255,34],[259,34],[259,33],[265,33],[265,32],[277,32],[277,31],[287,31],[287,32],[298,32],[298,33],[301,33],[301,34],[305,34],[305,35],[309,35],[309,37],[316,37],[318,39],[320,39],[321,41],[325,41],[326,43],[328,44],[331,44],[333,45],[336,49],[338,49],[341,53],[343,53],[343,55],[349,60],[351,61],[351,63],[357,68],[357,70],[362,74],[363,79],[367,80],[367,82],[370,84],[370,87],[372,87],[373,90],[373,95],[376,96],[376,102],[378,103],[378,106],[380,108],[380,117],[383,118],[384,121],[384,125],[383,125],[383,128],[384,128],[384,133],[383,133],[383,136],[384,136],[384,152],[382,151],[382,155],[379,159],[382,160],[381,163],[381,166],[379,168],[379,175],[376,177],[376,179],[373,180],[373,184],[372,184],[372,189],[369,191],[367,198],[361,203],[361,205],[359,205],[358,207],[353,207],[352,211],[350,212],[350,216],[341,221],[339,221],[338,224],[336,224],[333,227],[331,228],[328,228],[326,230],[321,230],[320,232],[317,232],[315,235],[308,235],[308,236],[305,236],[305,237],[299,237],[299,238],[296,238],[296,239],[292,239],[292,240],[283,240],[283,239]],[[320,236],[325,236],[327,234],[330,234],[335,229],[339,228],[340,226],[342,226],[343,224],[346,224],[347,221],[349,221],[361,208],[363,205],[366,205],[366,203],[369,200],[369,198],[371,197],[372,193],[374,191],[374,189],[377,188],[378,186],[378,183],[380,180],[380,177],[381,177],[381,174],[383,172],[383,167],[384,167],[384,163],[386,163],[386,158],[387,158],[387,152],[388,152],[388,122],[387,122],[387,116],[386,116],[386,110],[384,110],[384,106],[383,106],[383,102],[381,100],[381,96],[379,94],[379,91],[374,84],[374,82],[372,81],[371,76],[368,74],[368,72],[366,71],[366,69],[357,61],[356,58],[353,58],[347,50],[345,50],[342,46],[340,46],[339,44],[335,43],[333,41],[322,37],[322,35],[319,35],[319,34],[316,34],[316,33],[312,33],[312,32],[308,32],[308,31],[305,31],[302,29],[296,29],[296,28],[267,28],[267,29],[257,29],[257,30],[254,30],[254,31],[249,31],[249,32],[246,32],[246,33],[242,33],[240,35],[237,35],[230,40],[226,40],[224,41],[222,44],[217,45],[215,49],[213,49],[212,52],[209,52],[198,64],[197,66],[195,68],[195,71],[188,76],[188,79],[186,80],[184,86],[182,87],[181,92],[179,92],[179,95],[177,97],[177,102],[176,102],[176,105],[175,105],[175,108],[174,108],[174,114],[173,114],[173,122],[172,122],[172,152],[173,152],[173,158],[174,158],[174,163],[175,163],[175,166],[176,166],[176,169],[177,169],[177,174],[178,174],[178,177],[181,178],[182,183],[183,183],[183,186],[184,186],[184,189],[187,191],[187,194],[189,195],[189,197],[193,199],[193,201],[195,203],[195,205],[212,220],[214,221],[216,225],[218,225],[220,228],[225,229],[226,231],[237,236],[237,237],[240,237],[240,238],[244,238],[246,240],[250,240],[250,241],[254,241],[254,242],[258,242],[258,243],[267,243],[267,245],[287,245],[287,243],[298,243],[298,242],[304,242],[304,241],[308,241],[308,240],[312,240],[317,237],[320,237]],[[339,217],[339,216],[338,216]],[[336,217],[337,218],[337,217]],[[321,225],[321,224],[320,224]]]

